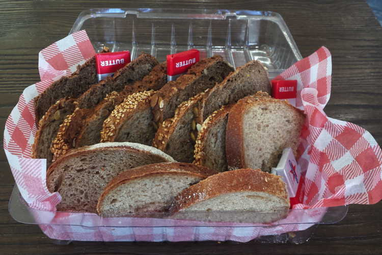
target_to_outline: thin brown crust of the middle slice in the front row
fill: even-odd
[[[156,163],[150,165],[144,165],[128,169],[120,173],[112,181],[110,181],[107,186],[103,189],[101,196],[97,203],[97,212],[101,214],[101,207],[103,199],[115,188],[122,184],[128,183],[134,179],[139,179],[141,177],[161,175],[161,174],[174,174],[174,175],[194,175],[201,179],[205,179],[208,176],[216,174],[217,171],[203,167],[197,166],[195,164],[189,163],[178,163],[178,162],[166,162],[166,163]]]

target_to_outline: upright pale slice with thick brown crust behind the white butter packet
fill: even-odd
[[[240,99],[228,117],[226,152],[229,169],[276,167],[282,151],[296,156],[305,123],[301,110],[265,92]]]

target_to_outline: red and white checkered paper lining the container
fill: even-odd
[[[307,115],[298,147],[298,164],[305,175],[304,204],[295,205],[296,210],[291,210],[286,219],[250,226],[150,218],[102,219],[96,214],[57,212],[61,196],[46,188],[46,160],[31,158],[37,130],[33,99],[94,54],[85,31],[43,49],[39,54],[41,82],[23,91],[6,122],[4,149],[16,184],[34,209],[31,212],[36,222],[49,223],[40,225],[48,237],[83,241],[247,242],[259,236],[305,230],[312,224],[301,223],[319,222],[324,207],[371,204],[382,198],[382,152],[374,138],[361,127],[329,118],[323,112],[330,97],[332,63],[329,50],[321,47],[276,78],[297,80],[297,107]]]

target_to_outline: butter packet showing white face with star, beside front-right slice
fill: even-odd
[[[291,148],[285,148],[283,155],[277,167],[272,167],[272,174],[279,175],[286,183],[287,191],[290,199],[290,208],[297,203],[301,203],[301,189],[303,179],[301,177],[301,169],[297,165]]]

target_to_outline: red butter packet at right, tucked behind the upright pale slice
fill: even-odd
[[[273,80],[272,97],[286,99],[289,104],[296,107],[297,81],[296,80]]]

